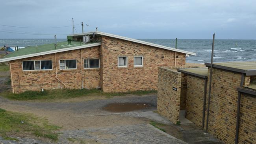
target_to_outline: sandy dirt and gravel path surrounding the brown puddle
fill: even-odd
[[[156,109],[156,95],[147,96],[122,96],[105,100],[91,100],[82,102],[24,102],[7,100],[0,97],[0,108],[7,111],[31,113],[45,117],[52,124],[63,129],[82,129],[89,127],[111,127],[134,124],[148,124],[148,119],[134,118],[113,112],[104,111],[103,108],[109,103],[150,103],[151,107],[140,111]],[[77,117],[86,116],[86,117]]]

